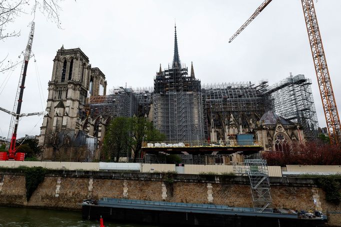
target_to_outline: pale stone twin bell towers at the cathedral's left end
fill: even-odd
[[[47,114],[37,137],[44,148],[44,159],[53,159],[55,153],[61,153],[60,147],[64,155],[71,148],[85,145],[88,135],[82,131],[82,120],[86,118],[88,97],[105,92],[105,75],[98,68],[91,68],[88,57],[79,48],[58,49],[48,82]]]

